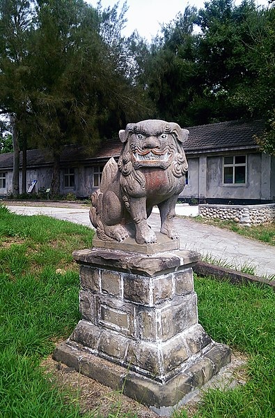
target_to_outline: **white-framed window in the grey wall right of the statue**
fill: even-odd
[[[223,184],[246,183],[246,156],[223,157]]]

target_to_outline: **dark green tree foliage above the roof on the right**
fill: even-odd
[[[157,116],[187,126],[267,117],[275,100],[274,10],[212,0],[163,26],[142,80]]]

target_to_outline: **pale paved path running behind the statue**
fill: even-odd
[[[81,223],[91,227],[88,208],[75,207],[26,207],[8,205],[8,209],[17,214],[43,214],[57,219]],[[196,208],[187,207],[187,216],[195,216]],[[191,218],[175,218],[175,227],[180,234],[181,248],[198,251],[211,259],[224,260],[230,267],[249,266],[258,276],[275,275],[275,247],[246,239],[235,232],[221,230],[218,227],[192,221]],[[153,230],[159,230],[159,215],[153,213],[148,219]]]

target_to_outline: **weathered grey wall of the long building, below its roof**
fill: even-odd
[[[201,200],[207,198],[272,200],[275,196],[275,158],[260,153],[246,155],[247,181],[244,185],[222,184],[222,156],[187,158],[189,184],[185,186],[179,197],[190,199],[200,197]],[[38,167],[31,171],[36,173],[38,180],[36,191],[41,187],[50,188],[52,181],[51,167]],[[74,193],[79,197],[90,196],[96,189],[93,187],[93,166],[75,167],[74,173],[74,187],[65,188],[63,170],[61,170],[61,195]],[[13,172],[12,170],[6,170],[6,191],[0,189],[0,195],[8,195],[8,192],[12,191],[12,186]]]

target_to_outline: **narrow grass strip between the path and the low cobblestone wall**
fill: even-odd
[[[207,219],[202,216],[196,216],[194,221],[205,223],[207,225],[214,225],[229,231],[236,232],[243,237],[256,239],[257,241],[265,242],[266,244],[275,245],[275,223],[267,223],[266,225],[251,225],[247,227],[236,223],[234,221],[221,221],[221,219],[212,218]]]

